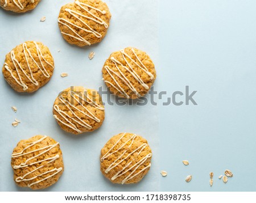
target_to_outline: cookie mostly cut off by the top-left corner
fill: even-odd
[[[27,12],[35,9],[41,0],[0,0],[0,6],[13,12]]]

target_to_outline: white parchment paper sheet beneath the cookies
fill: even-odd
[[[72,136],[65,133],[52,117],[52,105],[60,91],[70,86],[106,90],[101,69],[110,53],[135,46],[146,51],[158,70],[158,5],[154,0],[109,0],[112,20],[105,39],[97,45],[78,48],[66,43],[57,26],[59,10],[71,0],[42,0],[35,10],[13,14],[0,9],[0,65],[6,53],[27,40],[42,41],[51,50],[55,72],[51,81],[34,94],[18,94],[0,75],[0,191],[30,191],[19,188],[13,181],[11,153],[20,139],[36,134],[50,136],[60,142],[65,170],[59,181],[44,191],[158,191],[159,136],[158,109],[144,106],[105,105],[105,121],[95,132]],[[40,19],[46,16],[45,22]],[[60,50],[60,52],[58,52]],[[93,60],[88,54],[96,53]],[[68,77],[61,78],[61,73]],[[155,82],[157,87],[157,80]],[[113,95],[102,95],[115,100]],[[147,98],[150,99],[149,95]],[[14,113],[11,106],[18,108]],[[14,128],[14,119],[21,123]],[[144,179],[133,185],[110,183],[100,172],[100,150],[110,137],[121,132],[137,133],[148,140],[152,149],[151,170]]]

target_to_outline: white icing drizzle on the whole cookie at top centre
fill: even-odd
[[[84,24],[84,26],[86,28],[82,28],[80,26],[77,26],[74,23],[69,22],[68,20],[64,19],[64,18],[59,18],[58,22],[60,24],[63,24],[64,26],[68,27],[73,33],[74,35],[71,35],[69,33],[66,32],[61,32],[63,35],[67,35],[69,37],[73,37],[79,41],[83,41],[84,43],[90,45],[89,41],[85,40],[81,35],[79,35],[79,33],[75,30],[75,28],[72,28],[71,26],[74,26],[76,28],[81,29],[82,31],[88,32],[88,33],[92,33],[94,36],[96,36],[97,38],[102,38],[102,35],[100,33],[98,33],[97,31],[93,30],[87,23],[84,22],[84,20],[82,20],[82,18],[86,18],[86,19],[90,19],[93,20],[94,22],[104,25],[105,28],[108,28],[108,24],[102,20],[101,18],[99,18],[98,16],[94,15],[92,12],[90,12],[88,9],[86,9],[85,7],[89,7],[90,9],[93,9],[95,11],[100,12],[101,14],[106,14],[106,11],[102,11],[100,9],[97,9],[96,7],[87,5],[85,3],[79,2],[79,1],[75,1],[75,4],[77,6],[79,6],[82,10],[86,11],[88,13],[88,15],[83,15],[80,12],[76,12],[74,10],[71,9],[65,9],[65,11],[67,11],[69,14],[71,14],[72,16],[74,16],[77,20],[79,20],[82,24]],[[84,7],[85,6],[85,7]],[[81,16],[82,18],[79,18],[79,16]],[[92,16],[92,17],[90,17]],[[88,28],[88,29],[87,29]]]

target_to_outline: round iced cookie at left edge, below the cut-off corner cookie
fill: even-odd
[[[48,47],[26,41],[6,55],[3,77],[17,92],[34,92],[52,77],[54,62]]]

